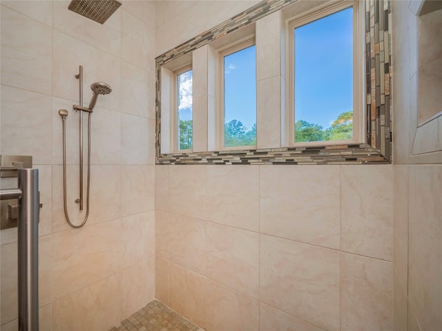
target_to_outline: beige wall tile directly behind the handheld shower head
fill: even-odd
[[[121,61],[107,52],[58,30],[54,30],[53,35],[52,96],[73,100],[77,105],[79,81],[75,79],[75,74],[78,74],[79,66],[83,66],[84,106],[89,105],[93,95],[89,86],[95,81],[104,81],[111,86],[113,92],[100,96],[97,107],[119,110]]]

